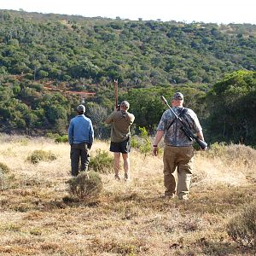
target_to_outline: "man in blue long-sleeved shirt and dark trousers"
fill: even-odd
[[[94,139],[91,120],[84,115],[84,105],[79,105],[77,111],[78,115],[71,119],[68,127],[68,143],[71,146],[71,173],[73,176],[79,174],[79,160],[81,160],[80,171],[87,171],[90,161],[89,150]]]

